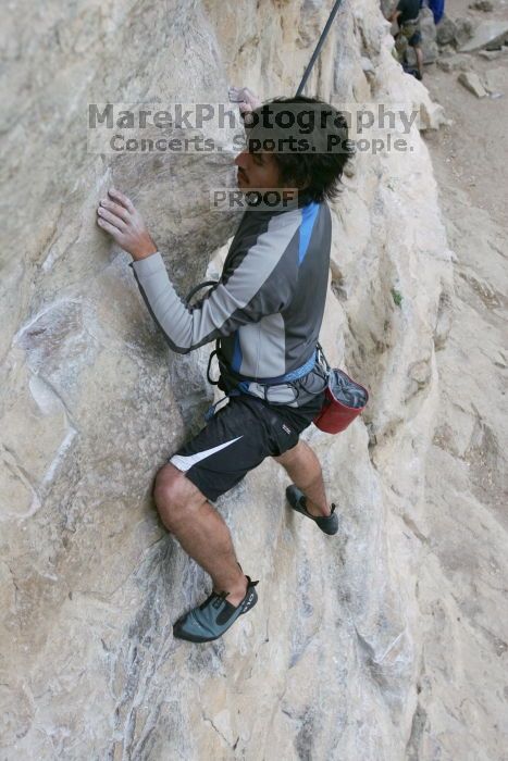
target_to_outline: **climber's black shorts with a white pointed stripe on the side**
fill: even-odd
[[[302,407],[269,404],[257,397],[231,397],[190,441],[169,460],[211,501],[261,464],[298,444],[315,417],[324,392]]]

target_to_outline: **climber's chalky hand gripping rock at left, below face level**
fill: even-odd
[[[108,198],[100,201],[97,224],[136,260],[158,251],[134,203],[115,188],[110,188]]]

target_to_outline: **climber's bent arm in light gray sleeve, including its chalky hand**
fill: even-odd
[[[296,220],[283,225],[275,238],[273,230],[255,236],[227,282],[221,280],[198,307],[189,308],[176,292],[131,199],[114,188],[108,196],[114,200],[102,199],[98,224],[134,258],[131,267],[141,296],[173,351],[186,354],[219,336],[228,336],[280,312],[290,298],[294,283],[286,269],[293,273],[289,244],[298,227]]]

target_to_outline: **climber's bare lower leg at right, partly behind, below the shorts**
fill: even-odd
[[[321,465],[312,449],[305,441],[284,454],[274,458],[286,470],[292,482],[307,497],[307,511],[311,515],[330,515]]]

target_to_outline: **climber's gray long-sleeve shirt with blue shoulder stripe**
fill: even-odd
[[[301,201],[300,201],[301,203]],[[177,295],[161,254],[133,262],[145,302],[174,351],[187,353],[221,337],[236,373],[262,382],[301,367],[315,351],[324,312],[331,248],[326,202],[283,211],[246,211],[221,279],[196,305]],[[306,378],[314,390],[320,378]],[[285,387],[275,394],[292,403]],[[256,382],[249,392],[262,396]],[[298,397],[298,407],[311,398]]]

